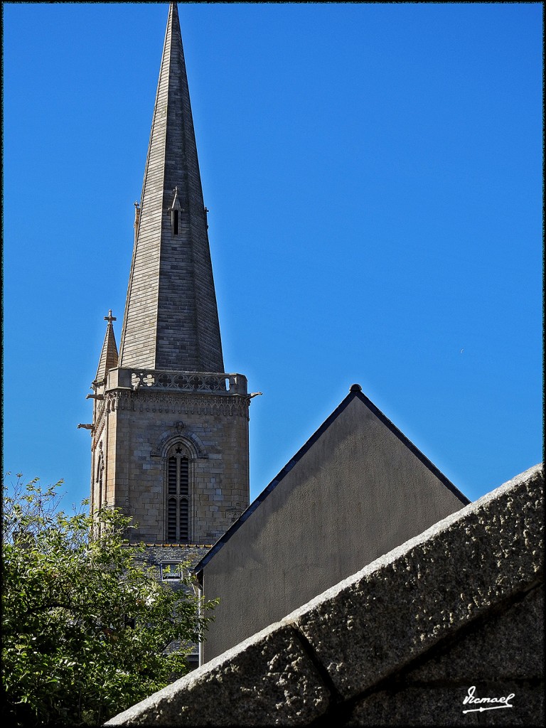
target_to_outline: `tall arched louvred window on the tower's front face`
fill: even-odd
[[[191,537],[191,467],[180,443],[167,452],[167,541],[189,542]]]

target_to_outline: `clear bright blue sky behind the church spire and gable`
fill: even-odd
[[[540,462],[542,5],[179,9],[251,497],[354,382],[470,499]],[[3,12],[4,472],[79,502],[167,4]]]

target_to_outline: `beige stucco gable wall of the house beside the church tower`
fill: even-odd
[[[352,397],[202,570],[221,600],[203,660],[462,508],[422,460]]]

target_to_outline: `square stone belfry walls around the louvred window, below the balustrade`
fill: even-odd
[[[191,452],[190,540],[213,543],[248,507],[248,397],[114,390],[97,448],[106,453],[106,499],[132,515],[132,540],[166,542],[165,452]]]

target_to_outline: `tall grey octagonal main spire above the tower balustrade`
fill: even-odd
[[[176,3],[170,4],[167,20],[119,366],[223,371]]]

